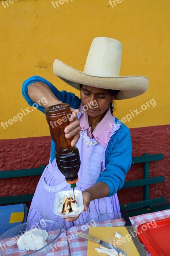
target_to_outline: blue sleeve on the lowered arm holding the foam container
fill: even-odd
[[[115,135],[115,136],[114,136]],[[132,163],[132,143],[129,129],[122,124],[111,137],[105,154],[105,170],[97,182],[106,183],[110,189],[108,197],[122,188]]]

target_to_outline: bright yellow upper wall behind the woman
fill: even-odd
[[[55,9],[51,0],[0,4],[0,122],[28,107],[21,85],[29,76],[43,76],[59,90],[79,95],[53,74],[54,58],[83,70],[93,38],[105,36],[123,44],[120,75],[147,76],[150,82],[144,95],[117,102],[115,116],[121,119],[154,99],[155,107],[150,104],[125,124],[170,123],[170,0],[117,1],[112,7],[108,0],[68,0]],[[45,116],[37,110],[8,126],[0,126],[0,139],[49,135]]]

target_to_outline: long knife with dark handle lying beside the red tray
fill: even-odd
[[[133,241],[133,243],[136,246],[136,249],[138,250],[138,253],[140,256],[147,256],[146,251],[144,250],[144,247],[142,246],[137,234],[136,234],[136,230],[134,229],[129,216],[127,215],[127,212],[123,209],[120,210],[120,212],[122,213],[122,217],[125,219],[126,223],[125,223],[125,227],[128,231],[128,233],[131,236],[131,239]]]

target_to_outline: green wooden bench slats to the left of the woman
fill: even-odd
[[[45,165],[42,165],[40,168],[33,168],[33,169],[1,171],[0,179],[42,175],[42,172],[44,171],[44,169],[45,169]],[[0,197],[0,204],[17,204],[17,203],[29,202],[32,200],[33,196],[34,194]]]

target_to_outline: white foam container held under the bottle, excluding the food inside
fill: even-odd
[[[54,213],[58,215],[61,218],[67,218],[67,217],[77,217],[83,210],[84,210],[84,204],[83,204],[83,197],[82,197],[82,191],[79,189],[74,189],[75,193],[75,198],[77,201],[77,206],[79,207],[79,210],[76,212],[76,214],[70,212],[69,214],[62,215],[59,211],[58,208],[60,206],[60,200],[65,196],[65,195],[71,195],[72,198],[74,198],[73,194],[73,189],[71,190],[62,190],[59,192],[55,193],[55,199],[54,199]]]

